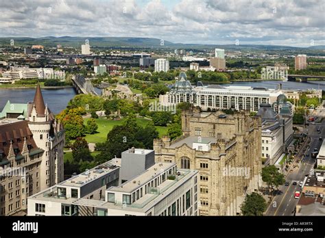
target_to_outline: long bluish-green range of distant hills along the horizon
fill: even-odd
[[[42,44],[45,47],[56,47],[57,44],[62,44],[63,47],[80,48],[88,39],[91,47],[134,47],[134,48],[171,48],[171,49],[214,49],[221,48],[232,51],[306,51],[306,49],[315,51],[325,49],[325,46],[314,46],[308,48],[302,47],[287,47],[277,45],[261,45],[261,44],[182,44],[173,43],[167,40],[163,42],[158,38],[134,38],[134,37],[75,37],[62,36],[53,37],[47,36],[42,38],[0,38],[0,47],[9,46],[10,39],[14,39],[14,44],[20,47],[31,46],[32,44]],[[162,45],[163,43],[163,45]]]

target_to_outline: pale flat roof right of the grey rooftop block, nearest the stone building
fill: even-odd
[[[142,187],[151,181],[152,178],[156,177],[161,172],[165,172],[173,166],[175,166],[175,163],[156,163],[154,166],[148,168],[139,176],[130,179],[130,181],[123,183],[119,187],[112,187],[110,191],[123,191],[125,193],[132,193],[139,187]]]

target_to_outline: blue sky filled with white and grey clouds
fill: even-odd
[[[131,36],[174,43],[325,44],[325,0],[0,0],[0,37]]]

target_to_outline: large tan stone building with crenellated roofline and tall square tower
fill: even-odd
[[[261,187],[261,118],[247,111],[182,112],[183,136],[154,140],[155,159],[199,170],[200,215],[239,215],[246,194]]]

